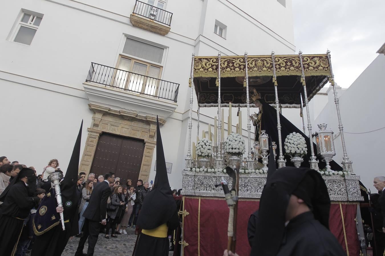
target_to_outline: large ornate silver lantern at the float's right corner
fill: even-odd
[[[333,132],[331,130],[326,130],[327,124],[318,124],[320,129],[315,134],[315,140],[317,145],[318,154],[323,157],[323,160],[326,162],[326,171],[330,172],[329,162],[335,156],[335,148],[333,141]]]

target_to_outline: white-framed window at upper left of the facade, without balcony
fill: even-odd
[[[23,10],[15,28],[12,41],[31,45],[33,37],[42,22],[43,15]]]

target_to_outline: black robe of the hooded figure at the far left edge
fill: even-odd
[[[28,188],[22,180],[9,189],[0,215],[0,255],[16,252],[24,219],[38,203],[39,197],[29,197]]]

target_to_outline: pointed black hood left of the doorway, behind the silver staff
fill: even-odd
[[[80,142],[82,140],[82,127],[83,120],[80,124],[79,133],[75,141],[74,149],[72,150],[72,155],[70,162],[67,167],[67,172],[65,173],[64,179],[61,182],[60,189],[62,195],[65,194],[66,197],[71,197],[75,191],[75,186],[77,182],[78,170],[79,170],[79,159],[80,159]]]

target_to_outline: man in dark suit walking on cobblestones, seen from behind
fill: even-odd
[[[107,199],[110,195],[110,182],[113,182],[115,178],[114,173],[107,172],[104,175],[104,182],[97,183],[92,190],[92,194],[83,216],[84,222],[84,234],[80,238],[79,245],[77,247],[75,256],[92,256],[94,255],[95,244],[99,236],[100,223],[106,224],[106,210]],[[84,243],[88,238],[87,254],[83,253]]]

